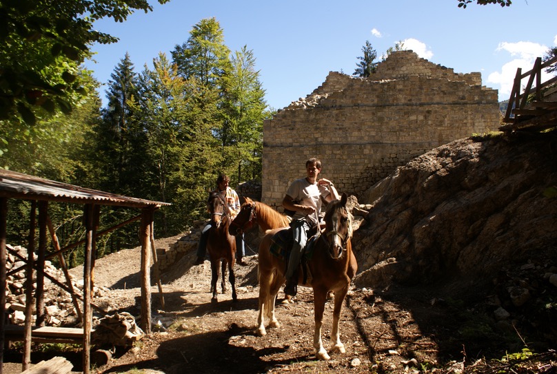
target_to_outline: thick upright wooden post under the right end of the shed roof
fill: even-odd
[[[141,228],[141,329],[146,334],[151,333],[151,271],[150,271],[150,228],[153,221],[153,209],[142,209]]]

